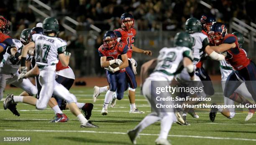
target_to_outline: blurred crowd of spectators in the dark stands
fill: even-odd
[[[28,8],[28,0],[1,0],[0,14],[13,24],[13,31],[34,25],[40,19]],[[200,0],[41,0],[50,5],[59,16],[68,15],[78,22],[94,24],[102,30],[120,26],[120,15],[132,13],[136,28],[141,31],[179,30],[187,18],[200,18],[202,14],[213,15],[218,21],[228,23],[236,17],[246,23],[256,22],[253,13],[255,0],[203,0],[211,9],[200,4]],[[77,26],[77,31],[88,27]],[[21,29],[21,28],[20,28]]]

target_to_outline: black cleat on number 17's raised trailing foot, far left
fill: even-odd
[[[20,116],[20,113],[16,109],[17,104],[13,100],[13,94],[8,94],[6,99],[4,100],[3,104],[4,104],[4,109],[5,110],[9,109],[16,116]]]

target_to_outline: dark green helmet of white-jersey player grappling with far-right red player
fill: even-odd
[[[185,30],[187,33],[196,33],[202,31],[202,25],[197,18],[189,18],[185,23]]]

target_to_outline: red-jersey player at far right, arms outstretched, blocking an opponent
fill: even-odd
[[[240,48],[237,37],[227,33],[224,23],[214,23],[209,31],[212,43],[216,46],[212,48],[217,52],[226,52],[225,61],[233,67],[233,71],[225,82],[224,96],[230,99],[235,90],[245,81],[246,88],[250,92],[253,100],[256,100],[256,66],[248,59],[246,51]],[[234,100],[235,101],[235,100]]]

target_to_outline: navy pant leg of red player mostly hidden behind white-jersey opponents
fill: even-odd
[[[197,68],[195,74],[201,79],[202,84],[204,85],[205,94],[212,96],[214,94],[212,81],[210,76],[205,72],[205,69],[203,67]]]

